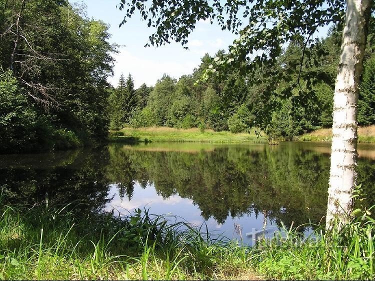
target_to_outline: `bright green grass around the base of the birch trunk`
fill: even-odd
[[[307,237],[284,229],[272,239],[263,239],[251,250],[251,263],[259,272],[277,279],[375,279],[373,236],[375,221],[369,216],[375,206],[360,211],[340,230],[324,233],[317,228]]]

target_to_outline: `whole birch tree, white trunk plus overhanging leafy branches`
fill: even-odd
[[[251,77],[255,76],[252,74],[259,71],[260,67],[261,79],[248,81],[252,84],[265,85],[260,95],[269,97],[273,93],[284,98],[291,96],[291,89],[296,88],[298,92],[293,96],[293,103],[303,101],[312,83],[316,83],[317,75],[316,71],[302,71],[302,69],[308,70],[312,65],[317,66],[317,58],[323,54],[319,42],[313,39],[314,33],[319,27],[328,23],[343,25],[344,2],[339,0],[251,2],[226,1],[222,4],[220,0],[122,1],[119,8],[124,9],[126,14],[120,26],[135,10],[138,10],[147,21],[147,25],[156,28],[155,33],[149,36],[149,43],[146,45],[159,46],[175,40],[186,47],[187,37],[195,28],[197,20],[208,19],[211,23],[216,20],[222,29],[232,30],[235,34],[239,34],[239,37],[229,46],[227,54],[214,58],[203,74],[203,78],[228,68],[236,69],[239,74],[247,74],[247,77]],[[337,215],[339,220],[344,222],[345,218],[342,214],[350,212],[351,191],[355,185],[356,103],[366,43],[366,24],[371,4],[370,0],[346,2],[341,59],[333,98],[327,227],[331,226],[333,216]],[[245,20],[242,21],[242,17]],[[244,25],[244,22],[248,24]],[[295,39],[301,39],[300,57],[290,63],[281,64],[281,67],[274,67],[277,64],[277,57],[281,54],[282,45]],[[311,47],[317,51],[311,52],[309,50]],[[301,85],[302,79],[306,81],[306,90]],[[276,92],[279,81],[288,82],[288,86]]]

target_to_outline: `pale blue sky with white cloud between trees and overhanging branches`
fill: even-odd
[[[83,3],[87,7],[87,16],[101,19],[110,25],[111,42],[119,45],[119,52],[114,55],[114,75],[108,81],[116,86],[121,73],[128,73],[134,78],[135,87],[145,82],[154,85],[156,80],[167,73],[174,78],[189,74],[200,64],[200,58],[208,52],[214,55],[218,49],[227,49],[236,38],[228,30],[222,31],[218,25],[199,21],[189,35],[188,50],[179,43],[172,42],[160,47],[144,47],[153,29],[146,21],[135,14],[126,24],[118,27],[124,12],[116,8],[120,0],[69,0],[71,3]],[[326,34],[327,28],[319,30],[319,36]]]

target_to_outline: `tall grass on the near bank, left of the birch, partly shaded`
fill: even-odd
[[[1,200],[0,279],[252,276],[235,243],[148,210],[87,215],[73,204],[6,206]]]

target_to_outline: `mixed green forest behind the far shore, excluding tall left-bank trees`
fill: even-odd
[[[214,56],[206,53],[191,74],[178,80],[164,74],[152,87],[142,84],[134,89],[131,74],[126,79],[121,76],[109,98],[113,108],[109,127],[114,130],[124,126],[199,127],[201,130],[210,128],[233,133],[258,127],[268,136],[286,140],[293,140],[294,136],[317,128],[331,127],[341,37],[342,32],[332,27],[326,38],[317,42],[324,53],[318,65],[308,71],[318,75],[318,81],[307,88],[307,81],[301,79],[301,88],[291,89],[288,98],[283,98],[285,93],[282,91],[287,82],[297,79],[297,74],[291,75],[289,81],[280,79],[280,86],[271,95],[262,94],[266,85],[249,85],[246,81],[250,78],[238,71],[228,71],[220,77],[200,81],[204,70],[209,68],[215,57],[222,56],[224,50],[218,50]],[[296,63],[303,48],[303,39],[299,39],[290,42],[277,57],[278,67],[287,68],[288,64]],[[375,123],[375,56],[371,52],[374,46],[369,40],[358,102],[359,125]],[[316,50],[311,48],[309,51]]]

